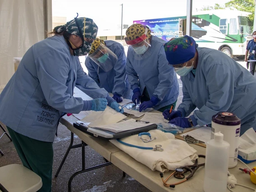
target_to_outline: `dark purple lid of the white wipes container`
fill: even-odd
[[[219,112],[212,116],[212,122],[221,124],[221,125],[239,125],[241,120],[233,113],[230,112]]]

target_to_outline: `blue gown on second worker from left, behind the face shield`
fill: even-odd
[[[113,94],[117,93],[125,99],[130,99],[129,95],[131,95],[130,92],[132,91],[126,81],[126,56],[123,46],[115,41],[105,41],[105,44],[118,58],[117,61],[114,61],[114,68],[105,72],[92,59],[87,57],[85,60],[85,66],[88,69],[88,75],[98,84],[99,87],[105,88],[106,91]]]

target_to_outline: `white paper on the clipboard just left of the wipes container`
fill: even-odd
[[[210,140],[210,134],[211,134],[210,127],[201,127],[201,128],[197,128],[193,131],[183,133],[183,134],[181,134],[181,136],[190,135],[201,142],[205,142],[205,144],[206,144],[206,142]]]

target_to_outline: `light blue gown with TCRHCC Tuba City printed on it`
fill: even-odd
[[[83,108],[82,98],[73,96],[75,86],[92,98],[108,96],[70,55],[63,36],[40,41],[27,50],[0,94],[0,121],[27,137],[53,142],[60,116]]]

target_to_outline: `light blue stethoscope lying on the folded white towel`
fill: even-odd
[[[146,139],[144,137],[142,137],[142,135],[147,135],[150,139]],[[154,137],[153,139],[151,138],[151,134],[150,133],[147,133],[147,132],[143,132],[143,133],[139,133],[138,136],[140,137],[140,139],[142,140],[142,142],[144,143],[148,143],[148,142],[151,142],[153,140],[156,139],[156,137]],[[117,141],[119,143],[122,143],[123,145],[126,145],[126,146],[131,146],[131,147],[135,147],[135,148],[138,148],[138,149],[147,149],[147,150],[154,150],[154,151],[164,151],[163,148],[161,148],[162,146],[161,145],[155,145],[155,147],[145,147],[145,146],[137,146],[137,145],[133,145],[133,144],[130,144],[130,143],[126,143],[126,142],[123,142],[119,139],[117,139]]]

